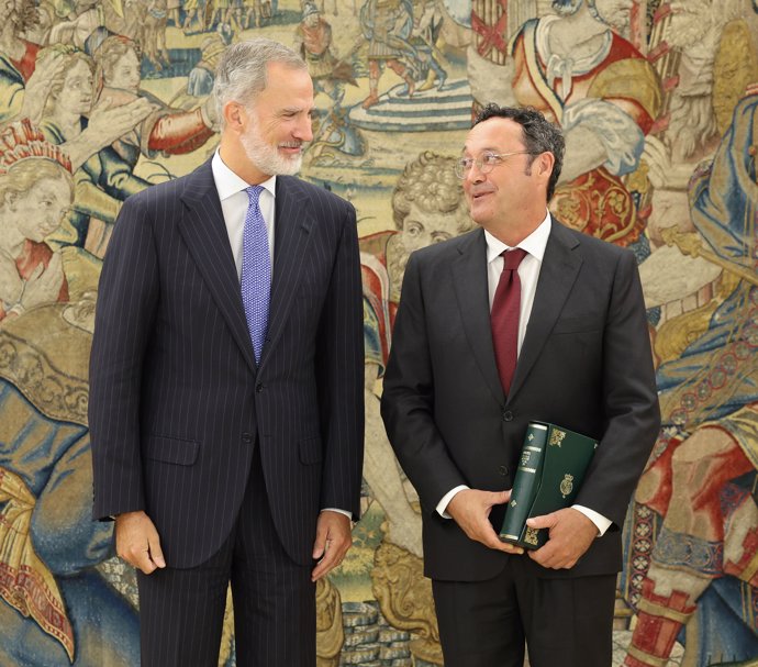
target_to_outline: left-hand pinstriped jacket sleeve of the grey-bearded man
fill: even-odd
[[[149,219],[143,204],[130,199],[103,262],[90,356],[94,519],[145,509],[140,390],[157,301],[158,258]]]

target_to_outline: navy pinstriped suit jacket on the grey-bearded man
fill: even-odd
[[[363,307],[355,210],[277,178],[268,337],[257,365],[210,162],[130,198],[100,278],[90,360],[94,518],[144,510],[167,563],[230,534],[260,448],[288,554],[317,513],[359,513]]]

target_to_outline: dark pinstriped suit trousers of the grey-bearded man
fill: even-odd
[[[221,549],[198,567],[137,572],[142,667],[216,667],[230,582],[237,666],[314,667],[311,571],[281,546],[256,445],[239,514]]]

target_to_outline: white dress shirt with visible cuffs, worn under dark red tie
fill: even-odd
[[[526,334],[526,325],[532,314],[532,307],[534,305],[534,294],[537,291],[537,280],[539,279],[539,269],[543,265],[543,257],[545,256],[545,248],[547,247],[547,240],[550,236],[550,214],[546,213],[545,220],[539,223],[539,226],[534,230],[526,238],[524,238],[517,246],[526,251],[526,255],[519,265],[519,279],[521,280],[521,309],[519,311],[519,343],[516,354],[521,354],[521,346],[524,343],[524,335]],[[499,238],[495,238],[488,231],[484,231],[484,240],[487,241],[487,281],[490,297],[490,310],[492,310],[492,301],[494,300],[494,292],[498,289],[500,276],[503,273],[502,253],[512,249],[511,246],[505,245]],[[447,513],[447,505],[453,497],[464,489],[469,487],[461,485],[450,489],[442,500],[437,503],[437,512],[445,519],[449,519]],[[575,510],[579,510],[598,527],[599,535],[603,535],[611,526],[612,521],[599,514],[594,510],[575,504]]]

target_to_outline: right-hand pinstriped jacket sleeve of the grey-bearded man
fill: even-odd
[[[344,214],[319,326],[319,400],[324,438],[322,509],[360,516],[364,465],[364,315],[355,209]]]

